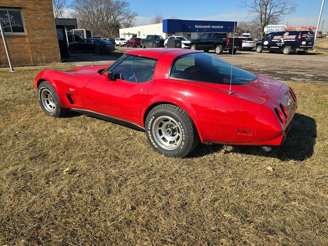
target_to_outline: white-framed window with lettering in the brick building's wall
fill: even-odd
[[[25,33],[21,10],[0,9],[0,18],[5,33]]]

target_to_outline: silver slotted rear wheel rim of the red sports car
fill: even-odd
[[[155,119],[152,131],[156,142],[166,150],[174,150],[182,141],[181,127],[170,116]]]

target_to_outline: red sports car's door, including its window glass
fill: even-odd
[[[156,63],[151,58],[124,55],[109,68],[111,79],[100,75],[86,85],[83,95],[88,110],[139,125]]]

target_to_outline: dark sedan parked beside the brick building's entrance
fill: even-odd
[[[69,51],[75,53],[77,51],[87,52],[93,51],[97,54],[101,52],[110,52],[114,51],[115,47],[112,43],[109,43],[103,39],[99,38],[86,38],[81,40],[80,42],[72,43],[68,46]]]

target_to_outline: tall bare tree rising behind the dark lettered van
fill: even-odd
[[[243,7],[249,8],[248,17],[252,17],[252,25],[258,28],[263,37],[264,27],[270,24],[278,24],[284,15],[294,13],[296,4],[289,0],[251,0],[243,1]],[[289,10],[288,10],[289,9]]]

